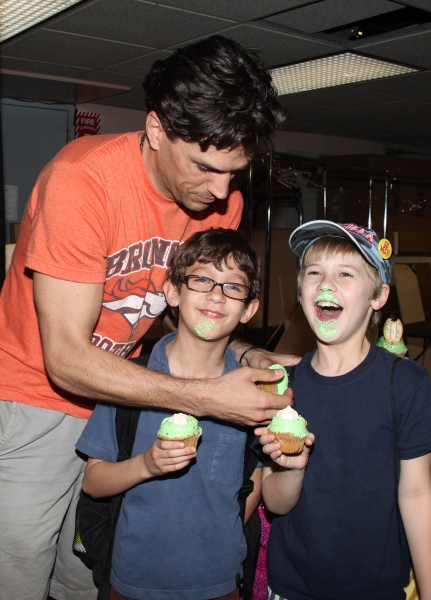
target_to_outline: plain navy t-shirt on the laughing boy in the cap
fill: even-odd
[[[403,600],[410,560],[398,541],[390,373],[394,355],[371,344],[340,377],[296,367],[295,409],[316,435],[296,507],[274,519],[271,589],[288,600]],[[431,451],[431,385],[399,361],[394,378],[398,456]]]

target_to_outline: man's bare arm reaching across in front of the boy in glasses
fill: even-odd
[[[91,343],[103,284],[75,283],[34,272],[34,298],[45,367],[69,392],[117,404],[158,407],[256,425],[287,404],[256,387],[281,373],[236,369],[217,379],[177,379],[133,364]]]

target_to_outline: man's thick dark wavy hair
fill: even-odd
[[[157,60],[143,83],[147,111],[165,133],[202,151],[268,145],[287,111],[265,67],[237,42],[215,35]]]

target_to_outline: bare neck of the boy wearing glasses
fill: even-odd
[[[228,340],[200,340],[181,329],[166,347],[169,370],[175,377],[213,379],[224,371],[224,354]]]

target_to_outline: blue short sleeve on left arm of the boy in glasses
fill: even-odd
[[[98,404],[76,444],[76,449],[91,458],[116,462],[118,456],[115,433],[116,412],[116,406]]]

